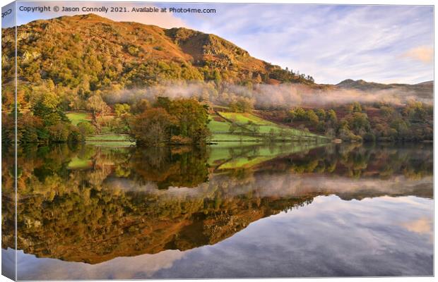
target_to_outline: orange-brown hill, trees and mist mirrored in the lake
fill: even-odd
[[[23,148],[18,249],[97,264],[213,245],[319,195],[433,197],[431,146],[290,149]],[[257,154],[266,159],[253,161]],[[4,196],[11,196],[13,166],[4,161],[3,168]],[[6,235],[13,225],[5,224],[13,222],[13,201],[2,201],[6,248],[13,246]]]

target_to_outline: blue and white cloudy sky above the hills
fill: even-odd
[[[90,7],[119,6],[114,2],[88,3]],[[43,4],[18,2],[18,7]],[[61,7],[66,2],[49,5]],[[69,6],[84,5],[84,2],[69,3]],[[312,75],[319,83],[336,84],[348,78],[418,83],[434,77],[433,6],[126,2],[120,6],[129,10],[133,6],[215,8],[215,13],[97,14],[112,20],[213,33],[246,49],[257,59]],[[74,14],[78,12],[18,11],[17,23]]]

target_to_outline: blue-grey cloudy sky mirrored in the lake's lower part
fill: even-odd
[[[94,265],[19,252],[18,278],[430,276],[432,219],[430,199],[318,196],[220,243],[185,252],[165,250]]]

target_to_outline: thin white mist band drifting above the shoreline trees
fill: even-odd
[[[146,88],[105,92],[104,97],[110,104],[133,103],[139,99],[148,99],[153,102],[156,97],[195,98],[199,101],[208,101],[219,105],[227,105],[238,99],[246,99],[257,109],[284,109],[296,106],[331,107],[353,102],[361,104],[384,102],[403,105],[411,100],[432,104],[432,99],[420,98],[415,92],[399,89],[368,92],[332,87],[329,90],[321,90],[300,84],[262,84],[245,87],[227,82],[220,84],[219,87],[214,82],[167,82]]]

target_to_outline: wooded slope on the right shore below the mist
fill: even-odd
[[[433,106],[410,101],[404,106],[355,102],[336,109],[293,108],[285,123],[345,141],[432,140]]]

